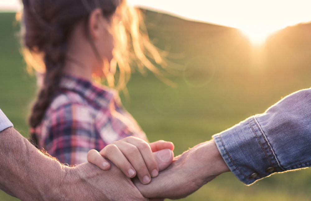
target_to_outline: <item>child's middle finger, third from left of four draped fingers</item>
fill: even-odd
[[[137,177],[142,184],[148,184],[151,181],[150,173],[138,148],[125,141],[116,141],[114,144],[118,146],[124,156],[135,168]]]

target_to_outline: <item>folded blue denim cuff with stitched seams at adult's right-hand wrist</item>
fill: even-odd
[[[255,116],[213,138],[231,172],[246,185],[284,171]]]

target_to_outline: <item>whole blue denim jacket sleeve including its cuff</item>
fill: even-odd
[[[301,90],[213,136],[231,172],[249,185],[311,166],[311,89]]]

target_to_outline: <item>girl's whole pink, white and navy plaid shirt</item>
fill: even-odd
[[[118,92],[71,76],[62,78],[58,95],[32,133],[39,147],[69,165],[87,162],[89,150],[100,151],[127,136],[146,140]]]

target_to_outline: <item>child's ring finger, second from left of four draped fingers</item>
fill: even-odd
[[[105,146],[105,148],[100,151],[100,155],[109,159],[129,178],[136,176],[135,168],[133,168],[131,163],[116,145],[111,144]]]

